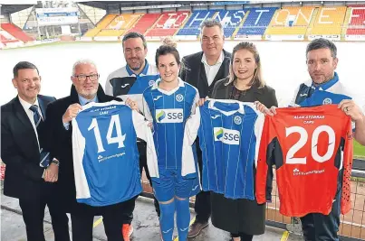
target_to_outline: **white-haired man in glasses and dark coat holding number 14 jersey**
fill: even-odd
[[[72,89],[69,97],[54,101],[47,107],[46,128],[51,153],[60,161],[59,184],[63,208],[71,213],[72,240],[91,241],[94,216],[101,215],[105,233],[110,241],[123,241],[121,227],[123,215],[133,211],[135,198],[104,207],[91,207],[76,201],[72,158],[72,118],[89,102],[104,103],[119,100],[105,95],[99,84],[99,74],[90,60],[73,65]],[[126,100],[129,104],[129,100]],[[137,107],[136,103],[133,103]],[[133,108],[133,107],[132,107]]]

